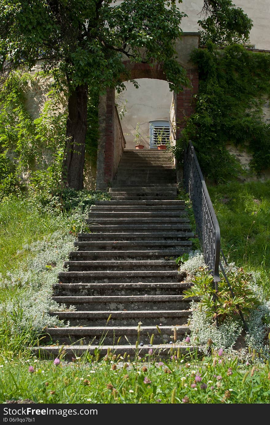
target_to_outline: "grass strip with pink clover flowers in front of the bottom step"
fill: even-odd
[[[179,358],[158,364],[152,356],[117,356],[60,363],[20,359],[0,363],[0,402],[37,403],[268,403],[269,364],[243,365],[223,357]],[[126,359],[127,360],[127,359]],[[220,360],[222,363],[219,363]],[[28,371],[29,366],[34,371]]]

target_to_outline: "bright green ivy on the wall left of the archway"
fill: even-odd
[[[39,72],[38,77],[44,79],[48,75]],[[35,87],[35,80],[28,72],[17,72],[12,84],[7,80],[0,91],[0,195],[26,191],[30,197],[41,197],[39,201],[46,204],[61,189],[67,111],[60,108],[63,93],[52,84],[42,113],[32,119],[26,110],[25,93],[29,83]],[[97,141],[98,97],[88,102],[85,149],[94,168]]]

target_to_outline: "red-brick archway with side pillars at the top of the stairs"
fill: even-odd
[[[192,33],[192,35],[194,35],[194,33]],[[197,39],[199,40],[198,37]],[[173,120],[172,122],[176,127],[175,139],[179,138],[181,131],[185,127],[186,120],[194,112],[195,102],[193,95],[198,93],[199,89],[198,70],[189,62],[189,59],[186,59],[186,57],[185,54],[180,53],[179,49],[179,58],[184,58],[186,61],[186,63],[183,63],[182,61],[181,64],[187,71],[191,87],[184,88],[184,90],[179,93],[173,93],[171,120]],[[127,79],[136,80],[140,78],[161,79],[167,81],[162,65],[159,63],[155,63],[152,66],[147,63],[133,63],[129,60],[126,60],[123,63],[128,70],[129,77],[127,78],[123,75],[122,81],[126,81]],[[123,136],[118,113],[115,108],[115,92],[114,89],[109,89],[107,93],[99,99],[99,144],[96,189],[107,189],[117,172],[118,164],[124,148],[125,138]]]

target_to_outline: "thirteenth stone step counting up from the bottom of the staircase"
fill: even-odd
[[[180,210],[180,211],[97,211],[97,210],[90,210],[88,214],[89,219],[97,219],[97,218],[131,218],[131,219],[162,219],[167,220],[171,218],[179,218],[179,217],[185,217],[187,215],[187,211]],[[135,216],[135,218],[134,218]]]

